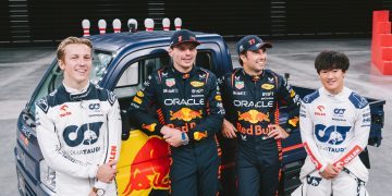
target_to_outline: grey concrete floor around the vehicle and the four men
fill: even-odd
[[[392,76],[381,75],[370,65],[369,39],[284,40],[272,41],[268,50],[267,68],[280,74],[290,73],[292,85],[318,88],[318,75],[314,59],[324,49],[345,52],[351,60],[346,86],[358,94],[387,100],[383,140],[379,148],[369,147],[370,195],[392,193]],[[233,64],[238,66],[234,42],[229,42]],[[16,118],[54,58],[54,48],[0,49],[0,195],[17,195],[15,160]]]

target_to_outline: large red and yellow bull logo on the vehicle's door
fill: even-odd
[[[148,137],[131,164],[130,181],[122,193],[143,189],[169,189],[169,146],[158,136]]]

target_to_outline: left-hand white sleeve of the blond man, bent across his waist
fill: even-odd
[[[98,167],[77,160],[61,147],[53,122],[36,105],[37,139],[45,161],[56,171],[77,177],[95,177]]]

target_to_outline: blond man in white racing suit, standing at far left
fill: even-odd
[[[57,195],[117,195],[120,107],[113,93],[89,83],[91,48],[88,39],[64,39],[63,84],[36,103],[37,139],[56,170]]]

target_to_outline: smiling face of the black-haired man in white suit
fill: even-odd
[[[341,69],[321,70],[319,73],[322,86],[333,95],[342,91],[345,72]]]

